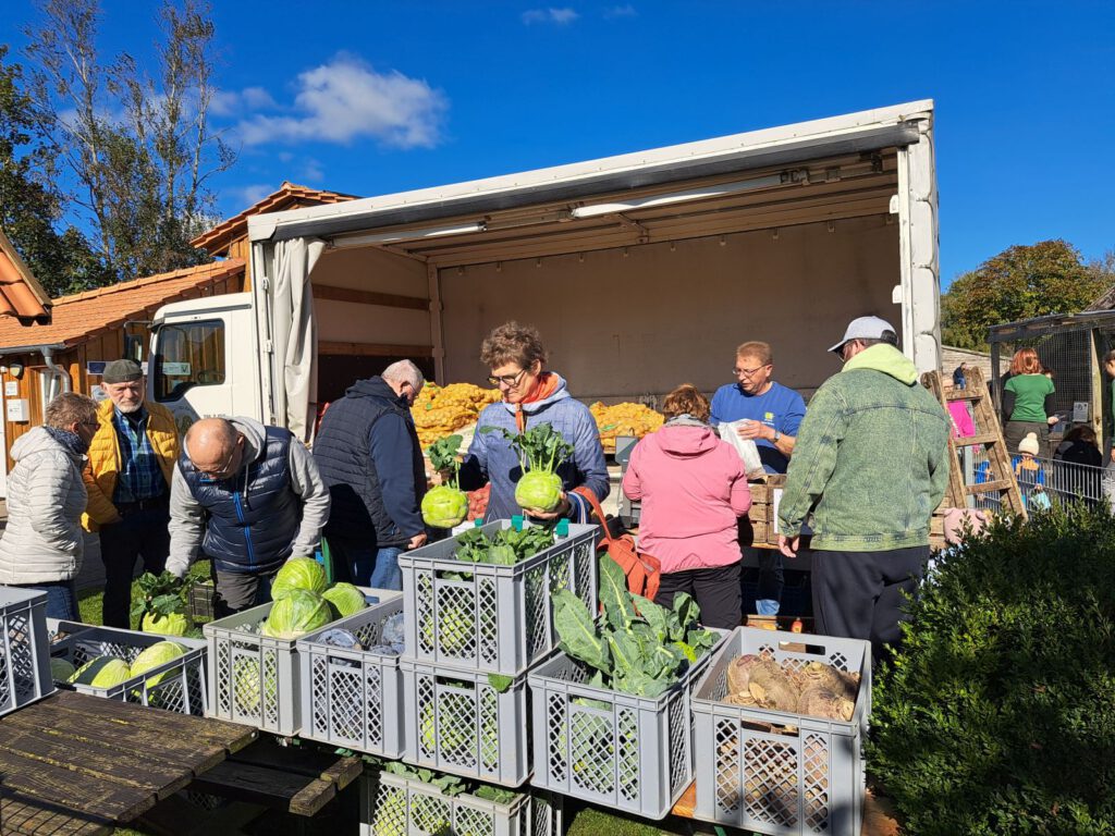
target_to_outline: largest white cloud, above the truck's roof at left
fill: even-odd
[[[299,74],[294,115],[255,114],[241,120],[245,145],[372,138],[399,148],[433,147],[448,103],[426,81],[398,71],[377,72],[341,55]]]

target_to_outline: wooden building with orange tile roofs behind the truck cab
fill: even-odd
[[[0,496],[7,495],[16,439],[42,424],[46,405],[61,391],[103,397],[98,387],[104,363],[122,357],[146,361],[148,325],[159,308],[250,288],[249,216],[347,200],[351,196],[283,183],[278,192],[191,242],[219,260],[61,297],[52,303],[33,279],[26,288],[16,281],[17,271],[26,273],[26,268],[7,239],[0,237],[0,411],[4,419]],[[12,266],[6,266],[6,257]]]

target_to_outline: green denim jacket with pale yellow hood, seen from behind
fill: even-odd
[[[950,420],[896,348],[871,346],[809,401],[778,506],[797,536],[812,512],[812,547],[883,552],[929,545],[929,519],[949,484]]]

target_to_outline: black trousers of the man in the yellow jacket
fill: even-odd
[[[136,511],[119,523],[100,527],[100,560],[105,564],[105,626],[128,629],[132,615],[132,580],[136,560],[145,572],[159,574],[171,551],[171,522],[166,508]]]

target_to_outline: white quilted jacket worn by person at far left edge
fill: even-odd
[[[36,427],[16,439],[11,457],[16,467],[8,475],[0,583],[69,581],[81,567],[85,456]]]

